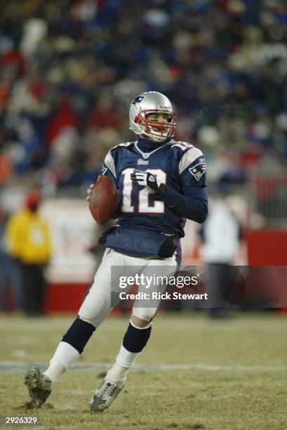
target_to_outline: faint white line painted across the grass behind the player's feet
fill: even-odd
[[[25,371],[31,365],[45,370],[47,363],[0,363],[0,372]],[[79,363],[72,365],[69,370],[108,370],[112,363]],[[287,365],[206,365],[199,364],[175,364],[175,365],[134,365],[132,370],[206,370],[214,372],[216,370],[232,370],[238,372],[248,372],[251,370],[287,370]]]

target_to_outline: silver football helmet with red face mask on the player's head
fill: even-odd
[[[165,121],[149,119],[149,115],[162,114]],[[156,91],[141,93],[131,103],[130,129],[135,134],[147,136],[154,142],[163,142],[175,133],[175,112],[170,100]]]

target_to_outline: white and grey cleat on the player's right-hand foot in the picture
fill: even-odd
[[[113,401],[124,388],[124,383],[112,384],[107,379],[102,381],[102,384],[95,390],[90,402],[90,410],[95,412],[102,412],[104,409],[109,408]]]

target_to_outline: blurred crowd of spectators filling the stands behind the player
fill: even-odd
[[[211,181],[287,157],[287,3],[11,0],[0,11],[0,190],[85,189],[107,150],[134,140],[128,105],[161,91],[176,138]]]

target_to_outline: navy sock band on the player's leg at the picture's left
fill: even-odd
[[[62,342],[67,342],[67,344],[74,346],[76,351],[81,354],[94,331],[95,327],[93,325],[76,318],[67,333],[62,337]]]

